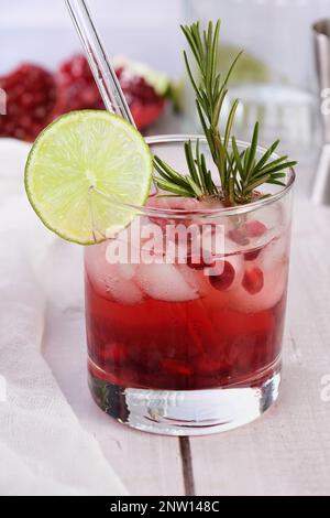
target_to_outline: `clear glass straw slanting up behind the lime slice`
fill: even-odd
[[[65,0],[65,2],[107,110],[135,126],[117,74],[107,56],[85,0]]]

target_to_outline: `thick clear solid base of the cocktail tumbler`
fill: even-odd
[[[143,432],[174,436],[226,432],[254,421],[277,399],[280,367],[262,380],[255,387],[147,390],[112,385],[89,371],[91,395],[105,412]]]

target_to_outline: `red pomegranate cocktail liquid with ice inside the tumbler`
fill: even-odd
[[[87,250],[91,373],[155,390],[263,384],[280,357],[288,236],[267,238],[252,224],[263,236],[243,247],[231,240],[238,250],[217,258],[211,274],[191,256],[186,265],[110,265],[107,242]]]

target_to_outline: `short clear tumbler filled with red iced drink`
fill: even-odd
[[[187,140],[148,143],[185,173]],[[266,185],[268,196],[235,207],[165,193],[142,207],[105,197],[105,241],[85,252],[89,387],[102,410],[146,432],[202,435],[274,403],[294,180],[288,170],[285,187]],[[131,215],[124,229],[111,227],[114,211],[117,220]]]

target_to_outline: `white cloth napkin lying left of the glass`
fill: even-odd
[[[28,144],[0,139],[0,494],[123,495],[42,355],[44,258],[57,238],[26,202],[28,152]]]

